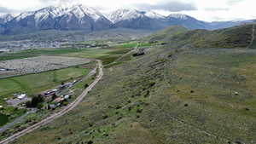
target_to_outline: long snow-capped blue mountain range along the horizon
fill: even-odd
[[[186,14],[164,16],[153,11],[118,9],[111,14],[102,14],[95,8],[82,4],[50,6],[37,11],[0,16],[0,34],[18,34],[44,30],[95,32],[113,28],[161,30],[169,26],[184,26],[188,29],[216,30],[251,23],[254,20],[206,22]]]

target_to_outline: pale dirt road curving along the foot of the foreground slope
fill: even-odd
[[[102,70],[102,61],[101,60],[97,60],[98,64],[97,64],[97,68],[99,70],[98,75],[96,76],[96,80],[90,84],[90,86],[84,90],[84,92],[79,95],[79,97],[73,101],[71,104],[69,104],[67,107],[65,107],[64,109],[61,110],[61,112],[57,112],[51,116],[49,116],[48,118],[45,118],[44,120],[42,120],[41,122],[39,122],[38,124],[34,124],[28,128],[26,128],[25,130],[21,130],[20,132],[16,133],[15,135],[11,135],[9,136],[7,139],[0,141],[0,144],[6,144],[9,143],[11,141],[15,141],[15,139],[19,138],[22,135],[26,135],[27,133],[32,132],[33,130],[38,129],[41,126],[44,126],[45,124],[49,124],[50,122],[52,122],[53,120],[55,120],[56,118],[60,118],[61,116],[63,116],[64,114],[66,114],[67,112],[70,112],[71,110],[73,110],[74,107],[77,107],[79,105],[79,103],[81,101],[83,101],[84,97],[88,94],[88,92],[102,79],[103,77],[103,70]]]

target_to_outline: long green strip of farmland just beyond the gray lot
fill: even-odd
[[[15,53],[6,53],[0,55],[1,60],[16,60],[21,58],[30,58],[37,56],[68,56],[68,57],[77,57],[77,58],[89,58],[89,59],[100,59],[104,65],[107,65],[113,60],[116,60],[121,55],[129,52],[134,47],[150,47],[153,44],[150,43],[119,43],[115,44],[110,48],[83,48],[83,49],[28,49],[21,50]]]

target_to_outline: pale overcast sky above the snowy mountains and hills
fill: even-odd
[[[256,19],[255,0],[0,0],[0,13],[20,13],[50,5],[83,3],[104,12],[119,8],[189,14],[199,20]]]

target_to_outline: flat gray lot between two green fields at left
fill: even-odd
[[[68,66],[83,65],[89,62],[90,60],[88,59],[62,56],[38,56],[20,60],[5,60],[0,61],[0,67],[8,69],[8,71],[1,71],[0,78],[47,72],[50,70],[67,68]]]

